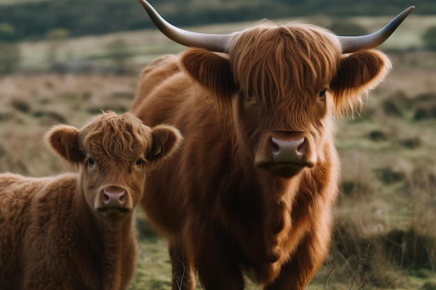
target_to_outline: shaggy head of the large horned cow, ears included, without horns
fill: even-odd
[[[191,49],[181,63],[232,111],[254,166],[280,177],[313,168],[332,137],[332,114],[352,110],[387,73],[378,51],[342,55],[337,38],[304,24],[242,31],[228,55]]]

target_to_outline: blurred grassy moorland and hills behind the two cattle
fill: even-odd
[[[436,1],[150,3],[197,32],[231,33],[267,18],[338,35],[372,33],[416,6],[379,47],[391,74],[361,111],[337,120],[343,182],[334,243],[308,289],[436,290]],[[70,170],[48,152],[45,132],[59,123],[80,127],[102,109],[127,111],[141,69],[184,49],[154,28],[137,0],[0,0],[0,172]],[[166,242],[141,211],[137,219],[130,289],[171,289]]]

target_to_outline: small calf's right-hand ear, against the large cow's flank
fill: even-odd
[[[146,159],[151,163],[160,163],[173,156],[182,144],[182,134],[172,126],[157,125],[151,129],[153,144],[146,153]]]

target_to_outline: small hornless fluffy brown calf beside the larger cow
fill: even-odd
[[[78,173],[0,175],[0,289],[127,289],[133,209],[148,172],[178,149],[179,131],[107,112],[80,130],[54,127],[47,140]]]

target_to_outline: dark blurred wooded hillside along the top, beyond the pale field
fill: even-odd
[[[210,3],[209,3],[210,2]],[[150,0],[178,26],[303,15],[396,15],[410,0]],[[436,1],[420,0],[416,14],[436,14]],[[53,29],[70,36],[144,29],[152,24],[137,0],[51,0],[0,6],[0,40],[37,40]]]

